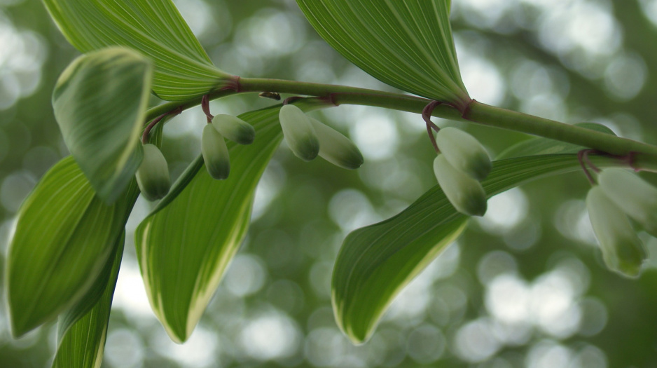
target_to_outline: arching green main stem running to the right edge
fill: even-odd
[[[403,95],[401,93],[323,83],[285,81],[282,79],[242,78],[235,81],[234,84],[237,86],[235,89],[224,88],[210,92],[208,94],[209,99],[215,100],[235,93],[291,93],[294,95],[318,97],[317,100],[323,102],[326,107],[338,106],[340,104],[357,104],[408,111],[417,114],[421,114],[422,109],[431,102],[431,100],[427,100],[426,98]],[[193,100],[161,104],[158,107],[148,110],[146,121],[151,121],[153,118],[174,109],[180,108],[181,110],[185,110],[198,106],[200,102],[200,98],[195,98]],[[441,104],[434,109],[432,116],[515,130],[530,135],[577,144],[590,149],[597,149],[598,151],[617,156],[623,156],[633,152],[635,153],[635,163],[652,166],[657,165],[657,146],[580,128],[576,125],[568,125],[516,111],[492,107],[475,100],[472,100],[464,111],[459,111],[459,109],[449,104]],[[421,119],[418,121],[420,122]]]

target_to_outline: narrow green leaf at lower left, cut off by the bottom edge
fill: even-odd
[[[53,368],[100,367],[124,242],[125,232],[116,240],[113,257],[108,259],[102,276],[98,278],[97,292],[92,293],[97,297],[82,299],[76,307],[60,316],[57,325],[59,346]],[[74,320],[76,322],[71,324]]]

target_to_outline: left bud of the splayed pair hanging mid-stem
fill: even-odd
[[[279,120],[285,142],[292,152],[303,161],[311,161],[319,154],[319,139],[312,124],[298,107],[286,104],[281,107]]]

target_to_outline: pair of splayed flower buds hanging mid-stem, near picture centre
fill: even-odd
[[[285,142],[295,156],[311,161],[317,156],[345,169],[363,165],[358,147],[337,130],[304,114],[298,107],[286,104],[278,115]]]

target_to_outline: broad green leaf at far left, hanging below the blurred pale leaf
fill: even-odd
[[[14,336],[53,320],[88,294],[115,249],[132,203],[106,205],[72,157],[51,168],[18,211],[6,288]]]

